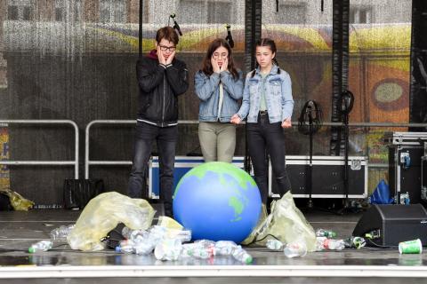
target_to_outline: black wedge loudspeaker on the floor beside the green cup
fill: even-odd
[[[427,245],[427,211],[421,204],[373,205],[360,218],[353,236],[378,231],[370,246],[398,246],[400,241],[420,239]]]

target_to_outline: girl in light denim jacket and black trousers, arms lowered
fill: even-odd
[[[291,189],[286,175],[283,129],[292,127],[294,99],[291,78],[278,67],[276,52],[276,44],[270,38],[263,38],[256,43],[257,67],[246,76],[242,106],[231,117],[231,122],[235,124],[246,119],[254,178],[264,205],[267,205],[269,196],[266,154],[270,155],[280,196]]]

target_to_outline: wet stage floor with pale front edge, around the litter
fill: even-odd
[[[80,211],[35,209],[0,212],[0,282],[18,283],[407,283],[425,282],[427,257],[399,255],[397,248],[321,251],[286,258],[268,248],[246,248],[254,263],[242,265],[231,256],[201,260],[157,261],[154,256],[118,254],[112,250],[80,252],[62,245],[30,255],[30,244],[48,239],[55,227],[76,222]],[[351,235],[361,213],[342,216],[320,211],[306,213],[315,229],[338,237]]]

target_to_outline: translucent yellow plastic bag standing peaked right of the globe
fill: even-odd
[[[242,244],[265,246],[269,235],[284,243],[303,241],[308,251],[316,250],[316,233],[300,209],[295,206],[290,192],[283,195],[280,200],[271,202],[270,215],[255,227]]]

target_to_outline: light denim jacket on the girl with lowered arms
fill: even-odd
[[[261,105],[261,86],[262,76],[260,68],[256,68],[254,77],[252,72],[246,75],[245,90],[243,91],[242,106],[238,111],[238,116],[243,120],[247,116],[247,122],[255,123],[258,121],[258,113]],[[270,123],[283,122],[286,118],[292,116],[294,109],[294,99],[292,98],[291,77],[286,71],[278,66],[271,67],[270,74],[266,77],[265,102],[269,112]]]

